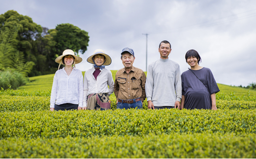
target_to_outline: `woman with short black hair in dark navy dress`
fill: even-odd
[[[201,57],[195,50],[189,50],[185,56],[191,66],[181,75],[181,109],[213,109],[216,107],[216,93],[220,90],[209,68],[199,66]]]

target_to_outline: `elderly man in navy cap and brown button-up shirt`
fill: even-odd
[[[121,60],[125,68],[117,71],[114,84],[117,109],[142,109],[143,100],[146,98],[146,75],[142,69],[132,65],[135,60],[132,49],[124,48],[121,53]]]

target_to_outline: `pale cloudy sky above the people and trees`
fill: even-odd
[[[33,22],[54,29],[70,23],[89,32],[88,50],[77,68],[92,67],[86,60],[96,49],[112,58],[110,70],[123,66],[123,48],[134,50],[134,66],[146,71],[158,60],[160,41],[172,45],[169,59],[189,65],[185,54],[196,50],[201,66],[212,70],[217,83],[247,86],[256,82],[256,0],[0,0],[0,14],[16,10]],[[72,49],[72,48],[70,48]]]

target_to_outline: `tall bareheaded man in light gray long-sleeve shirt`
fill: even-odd
[[[146,79],[146,96],[149,109],[180,108],[180,65],[168,59],[171,44],[160,42],[160,59],[149,64]]]

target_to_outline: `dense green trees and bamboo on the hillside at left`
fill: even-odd
[[[58,68],[55,58],[65,49],[83,54],[88,42],[88,32],[72,24],[48,29],[34,23],[29,16],[8,10],[0,15],[0,88],[11,85],[15,89],[16,85],[26,83],[24,77],[55,73]]]

